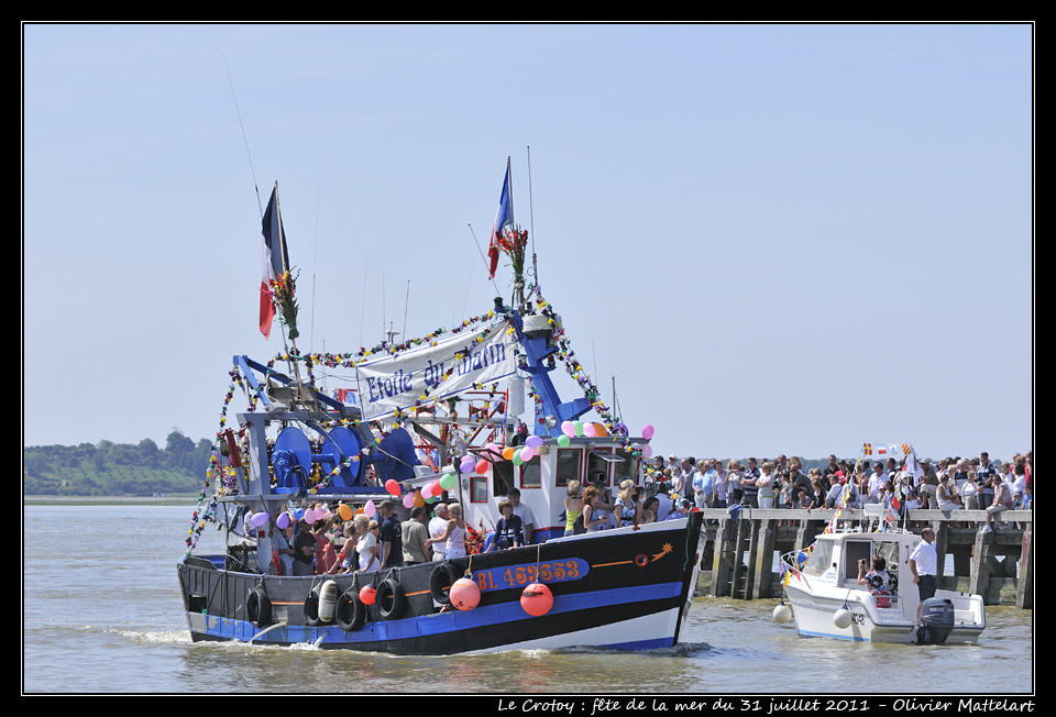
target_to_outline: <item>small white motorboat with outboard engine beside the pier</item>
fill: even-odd
[[[908,443],[866,443],[859,465],[871,456],[903,460],[902,474],[920,475]],[[844,507],[810,548],[782,555],[791,609],[782,599],[774,609],[778,622],[794,619],[801,637],[862,642],[946,644],[979,639],[987,625],[981,596],[936,589],[921,603],[910,560],[923,538],[899,527],[904,511],[898,490],[891,503],[867,505],[866,522],[843,521]]]

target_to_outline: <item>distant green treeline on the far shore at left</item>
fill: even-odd
[[[165,448],[139,443],[31,445],[22,449],[23,495],[151,496],[201,489],[212,443],[173,431]]]

